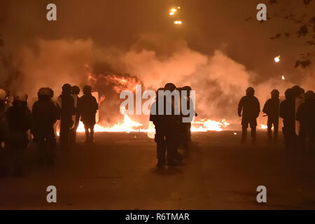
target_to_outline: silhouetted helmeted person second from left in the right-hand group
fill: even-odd
[[[268,99],[265,103],[262,112],[266,113],[268,116],[267,121],[267,135],[268,139],[272,140],[272,125],[274,126],[274,140],[276,141],[278,137],[278,130],[279,130],[279,91],[272,90],[271,92],[272,98]]]

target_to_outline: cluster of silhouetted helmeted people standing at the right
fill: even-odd
[[[253,87],[248,87],[246,96],[239,102],[238,114],[242,118],[241,143],[246,141],[248,125],[251,127],[253,144],[256,143],[257,118],[260,113],[260,104],[254,96]],[[269,142],[276,142],[279,130],[279,117],[283,118],[283,136],[287,152],[295,150],[303,155],[314,153],[315,136],[315,94],[307,92],[295,85],[284,93],[286,99],[280,103],[279,91],[272,90],[271,98],[267,100],[263,113],[268,116],[267,135]],[[298,121],[298,123],[296,123]],[[297,128],[296,125],[300,127]],[[274,136],[272,137],[272,127]],[[298,130],[298,131],[296,131]]]

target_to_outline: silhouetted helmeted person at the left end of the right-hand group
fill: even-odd
[[[239,101],[238,113],[241,118],[241,143],[246,141],[248,124],[251,127],[251,138],[253,144],[256,141],[256,127],[257,118],[260,113],[260,104],[258,99],[254,96],[255,90],[248,87],[246,96]],[[241,113],[243,111],[243,113]]]

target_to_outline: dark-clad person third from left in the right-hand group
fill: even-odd
[[[286,99],[280,104],[279,116],[283,118],[284,144],[287,151],[292,151],[296,146],[295,134],[295,97],[292,89],[285,92]]]

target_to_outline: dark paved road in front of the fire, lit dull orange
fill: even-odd
[[[255,147],[233,133],[193,134],[184,165],[165,169],[146,134],[97,133],[94,146],[58,151],[52,168],[38,168],[31,150],[25,178],[0,179],[0,209],[315,209],[314,158],[268,148],[264,132]],[[261,185],[266,204],[256,202]]]

